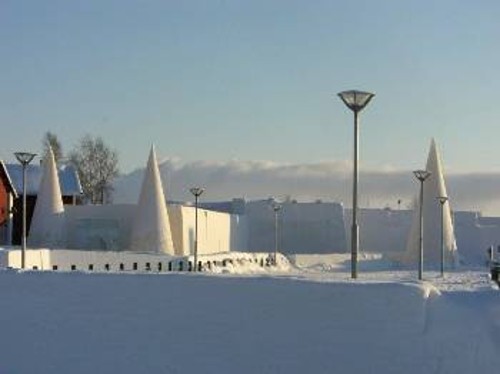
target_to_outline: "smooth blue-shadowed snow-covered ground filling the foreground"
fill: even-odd
[[[355,281],[345,256],[260,274],[1,270],[0,373],[498,370],[500,291],[486,267],[418,282],[362,260]]]

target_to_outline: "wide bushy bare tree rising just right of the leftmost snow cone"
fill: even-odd
[[[118,153],[101,137],[85,135],[69,155],[76,167],[86,200],[92,204],[112,201],[113,180],[118,176]]]

